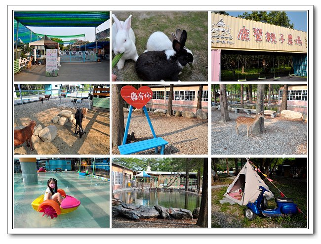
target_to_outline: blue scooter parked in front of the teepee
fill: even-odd
[[[246,204],[247,208],[245,209],[244,215],[248,220],[253,220],[256,215],[260,213],[266,217],[284,217],[290,216],[299,211],[297,204],[293,203],[293,200],[290,198],[275,198],[275,202],[277,203],[276,208],[267,209],[268,201],[264,196],[264,193],[270,191],[265,189],[263,186],[260,186],[259,190],[261,193],[257,200],[254,203]]]

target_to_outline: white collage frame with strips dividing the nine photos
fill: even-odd
[[[39,7],[39,6],[37,6]],[[46,7],[47,9],[63,9],[64,7],[68,7],[67,5],[61,5],[61,6],[43,6]],[[52,8],[50,8],[52,7]],[[80,5],[78,6],[77,10],[95,10],[95,9],[106,9],[109,10],[110,13],[112,14],[113,11],[177,11],[175,10],[177,6],[170,6],[170,5],[165,5],[165,6],[140,6],[140,5],[125,5],[125,6],[121,6],[121,5],[103,5],[103,6],[90,6],[90,5]],[[208,32],[207,35],[208,37],[210,37],[210,26],[211,26],[211,10],[213,10],[213,8],[217,8],[218,6],[215,5],[185,5],[184,6],[184,10],[179,10],[179,11],[204,11],[207,12],[207,20],[208,20]],[[314,9],[313,9],[313,5],[305,5],[305,6],[291,6],[291,10],[295,11],[299,11],[302,10],[302,7],[305,7],[305,10],[308,11],[308,27],[309,30],[314,28],[314,22],[313,22],[313,18],[314,18]],[[219,6],[219,9],[221,10],[240,10],[240,9],[246,9],[248,11],[251,10],[257,10],[257,9],[262,9],[262,10],[286,10],[289,11],[289,9],[287,9],[288,6],[287,5],[278,5],[278,6],[272,6],[272,5],[260,5],[260,6],[255,6],[255,5],[246,5],[246,6],[237,6],[237,5],[232,5],[232,6]],[[13,36],[13,30],[12,30],[12,22],[10,22],[10,20],[12,20],[13,18],[13,11],[14,10],[35,10],[36,7],[35,6],[28,6],[28,5],[8,5],[8,37],[12,37]],[[67,8],[66,8],[67,9]],[[161,10],[159,10],[161,9]],[[244,10],[245,11],[245,10]],[[110,16],[111,16],[110,14]],[[112,26],[112,22],[110,21],[110,29]],[[308,70],[308,79],[306,84],[309,86],[309,90],[313,91],[314,90],[314,67],[313,67],[313,61],[314,61],[314,53],[311,50],[314,50],[314,38],[313,38],[313,34],[311,32],[308,32],[308,39],[309,39],[309,46],[308,46],[308,60],[309,60],[309,70]],[[195,81],[191,81],[191,84],[200,84],[200,83],[204,83],[208,85],[208,88],[210,89],[211,85],[213,83],[218,84],[216,82],[211,81],[211,60],[210,60],[210,56],[211,56],[211,43],[210,43],[210,38],[208,38],[207,41],[207,67],[208,67],[208,80],[204,81],[204,82],[195,82]],[[8,41],[8,94],[12,94],[12,84],[17,84],[17,83],[21,83],[21,82],[14,82],[13,81],[13,75],[12,75],[12,79],[11,79],[11,74],[12,74],[12,52],[9,51],[12,48],[12,40]],[[112,57],[112,50],[110,49],[110,57]],[[311,65],[312,64],[312,65]],[[110,62],[110,71],[112,71],[111,69],[111,62]],[[107,81],[107,83],[110,85],[110,89],[112,88],[112,84],[123,84],[124,82],[121,81],[114,81],[112,82],[112,72],[110,72],[110,76],[109,76],[109,81]],[[309,84],[309,80],[310,80],[310,84]],[[12,82],[13,81],[13,82]],[[33,82],[24,82],[24,83],[33,83]],[[46,83],[46,82],[44,82]],[[91,83],[91,82],[89,82]],[[94,82],[92,82],[94,83]],[[104,82],[102,82],[104,83]],[[129,83],[129,82],[128,82]],[[131,84],[140,84],[141,82],[139,81],[131,81]],[[163,84],[163,83],[159,83],[159,82],[148,82],[149,84]],[[180,82],[171,82],[174,85],[175,84],[181,84]],[[223,82],[222,83],[226,83]],[[229,84],[237,84],[240,83],[238,81],[234,81],[234,82],[228,82]],[[244,82],[246,84],[258,84],[259,82],[255,82],[255,83],[251,83],[249,81]],[[275,84],[281,84],[281,82],[272,82]],[[12,96],[12,95],[11,95]],[[111,93],[111,97],[113,97],[113,94]],[[10,102],[12,101],[13,97],[10,97],[10,95],[8,95],[8,131],[11,131],[11,125],[13,124],[13,104]],[[208,94],[208,100],[212,101],[212,97],[211,94],[209,92]],[[309,103],[310,101],[310,103]],[[314,210],[314,203],[316,203],[316,199],[313,195],[314,191],[315,191],[315,185],[314,185],[314,171],[313,171],[313,165],[314,165],[314,115],[313,115],[313,111],[314,111],[314,94],[313,92],[309,93],[309,100],[308,100],[308,111],[309,113],[309,122],[307,123],[307,130],[308,130],[308,153],[306,155],[287,155],[289,157],[296,157],[296,158],[307,158],[308,161],[308,209],[309,209],[309,213],[308,213],[308,227],[307,228],[281,228],[281,229],[271,229],[271,228],[211,228],[211,191],[210,188],[208,187],[208,227],[207,228],[198,228],[198,229],[185,229],[185,228],[177,228],[177,229],[165,229],[165,228],[148,228],[148,229],[144,229],[144,228],[136,228],[136,229],[121,229],[121,228],[113,228],[112,227],[112,206],[111,206],[111,197],[110,197],[110,223],[109,223],[109,228],[75,228],[75,229],[68,229],[68,228],[52,228],[56,231],[56,233],[60,233],[60,234],[70,234],[71,232],[73,234],[83,234],[83,230],[84,229],[89,229],[91,230],[91,234],[145,234],[146,230],[148,230],[149,234],[177,234],[177,231],[179,230],[180,234],[265,234],[266,230],[269,230],[270,233],[273,234],[313,234],[314,233],[314,229],[315,229],[315,216],[313,214],[313,210]],[[11,114],[12,113],[12,114]],[[112,154],[112,114],[113,111],[112,109],[110,109],[110,137],[109,137],[109,154],[105,155],[105,154],[100,154],[100,155],[93,155],[93,154],[89,154],[89,155],[60,155],[60,157],[70,157],[70,158],[75,158],[75,157],[83,157],[83,158],[87,158],[87,157],[107,157],[110,159],[111,163],[112,163],[112,159],[113,158],[140,158],[140,155],[115,155]],[[211,109],[208,109],[208,118],[211,118]],[[275,158],[282,158],[284,157],[284,155],[243,155],[243,154],[236,154],[236,155],[225,155],[225,154],[218,154],[218,155],[213,155],[211,152],[211,138],[212,138],[212,131],[211,131],[211,126],[212,126],[212,121],[211,119],[209,119],[207,121],[207,154],[205,155],[192,155],[195,158],[207,158],[208,159],[208,168],[207,171],[211,172],[211,158],[234,158],[234,157],[242,157],[245,158],[247,156],[250,156],[251,158],[261,158],[261,157],[266,157],[266,158],[271,158],[271,157],[275,157]],[[310,129],[309,129],[309,125],[310,125]],[[13,133],[9,133],[8,132],[8,145],[12,145],[12,141],[13,141]],[[10,146],[8,146],[8,168],[7,168],[7,172],[8,172],[8,229],[7,229],[7,233],[8,234],[38,234],[39,233],[39,228],[13,228],[13,173],[12,173],[12,168],[10,167],[10,162],[13,162],[13,158],[14,158],[14,154],[11,154],[11,150],[13,152],[13,147],[11,148]],[[40,157],[48,157],[48,158],[53,158],[53,157],[57,157],[57,155],[39,155]],[[167,155],[165,156],[159,156],[159,155],[148,155],[148,158],[166,158]],[[309,157],[310,156],[310,157]],[[30,157],[30,155],[22,155],[19,156],[19,158],[28,158]],[[189,158],[191,157],[191,155],[171,155],[170,158]],[[110,176],[111,177],[111,176]],[[208,177],[208,186],[210,186],[210,177]],[[110,183],[110,185],[112,185]],[[12,190],[12,191],[11,191]],[[110,190],[111,191],[111,190]],[[110,194],[111,195],[111,194]],[[46,229],[46,228],[44,228]]]

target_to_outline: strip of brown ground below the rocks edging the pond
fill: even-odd
[[[201,228],[197,219],[140,219],[112,218],[112,228]]]

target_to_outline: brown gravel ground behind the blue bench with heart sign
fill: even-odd
[[[150,113],[157,137],[162,137],[169,144],[165,146],[164,154],[207,154],[207,121],[201,119],[188,119],[183,117],[166,117]],[[128,112],[124,112],[126,124]],[[135,141],[153,138],[145,115],[132,113],[128,134],[135,132]],[[119,154],[113,149],[113,154]],[[155,154],[154,149],[136,154]]]

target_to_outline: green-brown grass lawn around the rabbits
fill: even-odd
[[[131,28],[136,37],[138,55],[146,49],[150,35],[162,31],[167,37],[176,29],[187,31],[186,47],[193,52],[193,69],[187,65],[179,76],[180,81],[207,81],[207,12],[114,12],[119,20],[132,14]],[[114,23],[114,20],[113,20]],[[112,57],[115,54],[113,52]],[[136,74],[135,62],[126,60],[125,66],[112,70],[118,81],[142,81]]]

